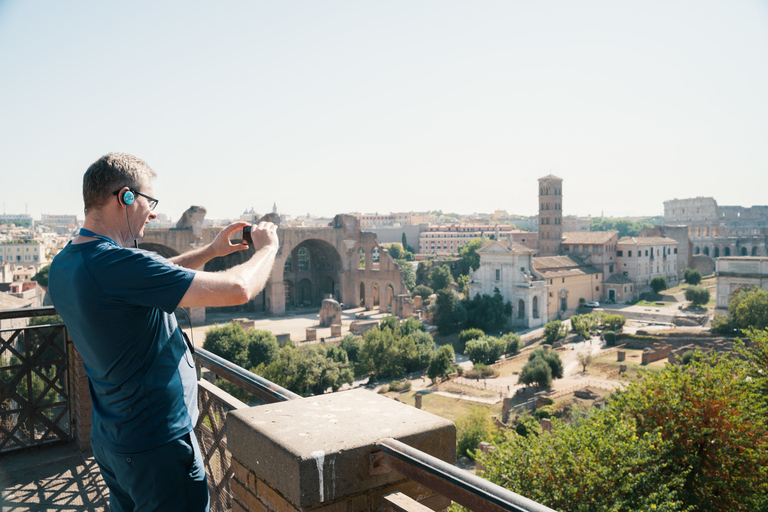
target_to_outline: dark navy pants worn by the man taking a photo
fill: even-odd
[[[194,432],[139,453],[115,453],[91,440],[112,512],[208,512],[208,480]]]

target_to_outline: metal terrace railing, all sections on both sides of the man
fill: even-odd
[[[7,310],[0,311],[0,320],[55,314],[52,307]],[[2,329],[0,335],[0,451],[71,439],[66,328],[61,324],[18,326]],[[196,349],[195,360],[199,371],[204,368],[265,402],[301,398],[206,350]],[[195,433],[208,475],[211,510],[228,511],[233,470],[225,420],[229,411],[248,405],[205,378],[198,380],[198,402]],[[376,447],[392,469],[476,512],[551,511],[394,439],[383,439]]]

